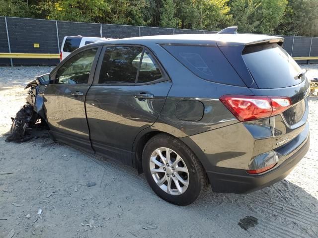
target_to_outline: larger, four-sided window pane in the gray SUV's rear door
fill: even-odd
[[[133,46],[107,47],[98,83],[135,83],[142,51]]]

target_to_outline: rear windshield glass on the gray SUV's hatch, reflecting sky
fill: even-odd
[[[259,88],[285,88],[302,82],[300,66],[278,44],[247,46],[243,60]]]

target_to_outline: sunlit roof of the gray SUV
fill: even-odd
[[[258,34],[178,34],[178,35],[159,35],[142,36],[118,39],[95,44],[203,44],[218,46],[242,46],[262,42],[278,43],[283,42],[284,38],[277,36],[258,35]]]

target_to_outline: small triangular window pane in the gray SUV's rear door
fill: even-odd
[[[140,59],[140,58],[139,58]],[[141,61],[140,71],[138,75],[138,83],[147,83],[161,78],[161,73],[156,60],[152,57],[148,50],[145,51]]]

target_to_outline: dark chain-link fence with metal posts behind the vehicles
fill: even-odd
[[[65,36],[126,38],[167,34],[211,34],[216,31],[0,17],[0,53],[59,54]],[[281,36],[292,57],[317,57],[318,37]],[[54,65],[57,59],[0,59],[0,65]],[[299,61],[306,62],[306,61]]]

